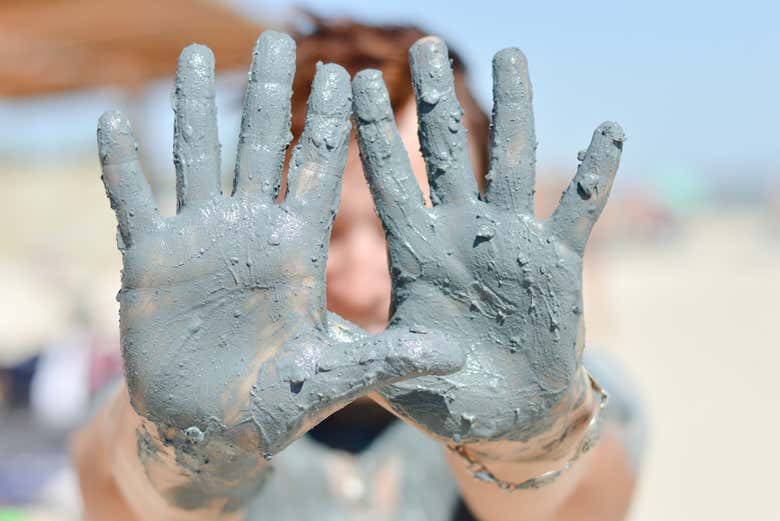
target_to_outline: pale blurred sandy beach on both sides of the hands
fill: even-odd
[[[7,288],[16,281],[29,294],[7,299],[15,310],[7,316],[32,320],[45,315],[42,303],[81,299],[93,326],[115,335],[115,224],[97,174],[84,170],[6,177],[0,217],[14,224],[1,239],[16,271],[2,273]],[[626,223],[616,202],[611,220]],[[625,362],[649,413],[631,519],[780,519],[780,222],[765,209],[731,207],[657,237],[636,236],[631,226],[602,230],[585,279],[588,342]],[[56,337],[69,314],[55,311],[13,329]],[[13,358],[16,337],[4,338]]]

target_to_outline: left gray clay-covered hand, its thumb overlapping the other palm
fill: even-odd
[[[325,265],[351,129],[350,79],[338,65],[318,66],[278,203],[294,71],[293,40],[264,33],[227,196],[214,57],[199,45],[183,51],[174,93],[178,211],[170,218],[156,210],[127,119],[100,119],[103,180],[123,253],[127,386],[136,412],[168,442],[218,443],[236,458],[270,455],[377,385],[463,363],[435,334],[409,328],[354,343],[331,333]]]

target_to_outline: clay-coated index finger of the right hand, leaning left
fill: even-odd
[[[426,210],[395,126],[382,73],[359,72],[352,94],[360,157],[377,213],[386,233],[401,236],[404,229],[422,222]]]

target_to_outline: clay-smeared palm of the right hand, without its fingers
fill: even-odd
[[[467,349],[466,365],[382,393],[448,438],[523,437],[531,433],[519,430],[518,418],[546,414],[578,366],[581,259],[531,219],[469,206],[434,209],[436,225],[408,242],[412,251],[396,250],[391,264],[391,327],[447,331]],[[430,404],[441,409],[421,414]]]

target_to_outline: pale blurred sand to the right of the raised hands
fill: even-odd
[[[588,336],[625,361],[650,414],[634,521],[780,519],[778,228],[711,211],[598,252]]]

